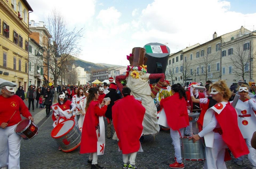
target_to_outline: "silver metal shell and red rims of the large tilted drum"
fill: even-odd
[[[73,119],[67,119],[67,120],[73,120]],[[65,121],[67,121],[65,120]],[[63,122],[62,121],[60,124],[61,125]],[[73,120],[74,121],[74,120]],[[56,126],[57,127],[57,126]],[[55,128],[56,128],[55,127]],[[54,128],[54,129],[55,129]],[[52,130],[51,136],[52,138],[60,145],[61,150],[63,152],[70,152],[75,150],[77,147],[79,147],[79,145],[81,144],[81,131],[79,130],[79,128],[75,125],[75,121],[73,126],[71,126],[71,128],[66,131],[64,134],[62,134],[61,136],[54,136],[54,132],[55,130]],[[66,145],[63,140],[67,139],[67,141],[70,141],[71,143],[69,143],[68,145]]]

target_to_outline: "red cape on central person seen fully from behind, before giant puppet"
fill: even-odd
[[[119,139],[118,146],[123,154],[137,152],[140,149],[139,139],[145,112],[146,109],[133,96],[117,100],[112,107],[113,125]]]

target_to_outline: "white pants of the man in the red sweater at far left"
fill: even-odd
[[[0,167],[20,168],[20,140],[15,132],[16,125],[0,128]]]

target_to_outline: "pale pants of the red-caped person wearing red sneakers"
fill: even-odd
[[[178,130],[172,130],[172,128],[170,128],[170,133],[171,133],[172,143],[175,151],[174,155],[177,158],[177,162],[182,163],[181,149],[180,149],[180,134],[182,137],[184,136],[184,128],[180,129],[180,134]]]

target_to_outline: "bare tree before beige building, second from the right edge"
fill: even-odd
[[[206,46],[208,46],[206,44]],[[198,59],[198,67],[199,71],[201,70],[201,73],[205,75],[205,82],[207,81],[208,78],[208,66],[211,65],[211,63],[216,62],[220,58],[220,51],[217,51],[215,53],[212,53],[212,48],[208,47],[206,52],[204,50],[201,50],[199,53],[200,57]],[[200,72],[198,72],[200,73]]]

